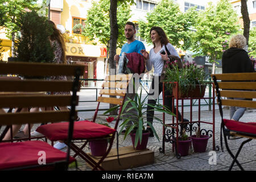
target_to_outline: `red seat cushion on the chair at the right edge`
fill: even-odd
[[[256,134],[256,122],[245,123],[240,121],[233,121],[230,119],[223,119],[223,121],[229,130]]]

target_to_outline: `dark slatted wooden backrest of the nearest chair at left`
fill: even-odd
[[[70,121],[71,117],[75,119],[74,108],[79,101],[76,92],[80,90],[79,77],[83,72],[84,67],[76,64],[0,63],[0,75],[23,77],[21,79],[0,77],[0,108],[72,106],[71,111],[3,113],[0,114],[0,126]],[[51,80],[52,76],[73,76],[75,79],[74,81]],[[50,92],[73,93],[47,94]]]

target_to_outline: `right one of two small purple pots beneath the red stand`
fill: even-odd
[[[195,152],[205,152],[209,136],[200,135],[200,138],[196,138],[196,135],[191,136],[192,144]]]

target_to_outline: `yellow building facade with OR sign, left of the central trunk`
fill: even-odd
[[[85,23],[91,6],[89,0],[53,0],[51,20],[66,32],[64,37],[67,60],[85,65],[84,78],[100,79],[104,78],[106,48],[97,42],[89,42],[88,37],[81,35],[81,30],[73,31],[76,24]]]

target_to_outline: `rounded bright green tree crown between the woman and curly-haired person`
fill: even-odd
[[[228,48],[226,43],[230,36],[240,27],[236,11],[228,0],[220,0],[216,6],[210,3],[197,20],[193,51],[198,52],[197,55],[208,55],[211,62],[220,60],[222,52]]]

